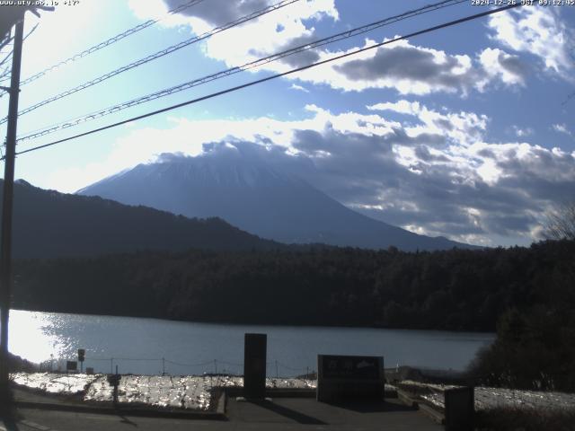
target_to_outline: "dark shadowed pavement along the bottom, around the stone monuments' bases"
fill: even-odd
[[[141,418],[75,413],[46,409],[19,409],[16,423],[0,422],[0,431],[148,431],[170,429],[206,431],[438,431],[420,411],[397,402],[382,406],[336,407],[313,399],[286,398],[261,403],[228,403],[226,421],[196,419]]]

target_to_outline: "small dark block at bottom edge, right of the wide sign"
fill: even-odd
[[[455,388],[445,391],[446,431],[473,431],[475,388]]]

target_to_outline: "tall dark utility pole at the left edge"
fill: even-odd
[[[12,208],[14,188],[14,158],[16,153],[16,127],[18,123],[18,96],[20,92],[20,66],[22,62],[22,37],[24,13],[16,22],[10,81],[10,103],[6,131],[6,154],[4,158],[4,196],[2,206],[2,239],[0,244],[0,402],[8,400],[8,318],[12,293]]]

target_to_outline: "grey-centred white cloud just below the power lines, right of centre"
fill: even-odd
[[[314,50],[314,58],[301,63],[310,64],[340,57],[375,44],[375,40],[365,40],[362,46],[344,50],[317,49]],[[282,73],[299,65],[298,62],[288,64],[282,61],[259,69]],[[473,89],[484,92],[498,83],[509,87],[523,85],[526,72],[526,66],[517,56],[500,49],[488,48],[473,59],[467,55],[449,54],[443,50],[411,44],[408,40],[399,40],[288,75],[287,78],[302,83],[329,85],[344,92],[391,88],[400,94],[450,92],[467,95]]]

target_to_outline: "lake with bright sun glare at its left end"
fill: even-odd
[[[268,374],[317,368],[318,354],[384,356],[385,367],[463,370],[490,333],[310,326],[231,325],[57,312],[10,312],[10,351],[53,369],[86,351],[95,372],[202,374],[243,372],[243,334],[268,334]]]

